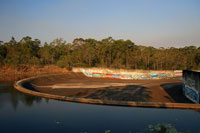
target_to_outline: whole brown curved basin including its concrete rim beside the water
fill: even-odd
[[[80,82],[82,83],[80,84],[80,86],[74,87],[77,86],[77,83]],[[102,85],[102,83],[104,84],[110,83],[110,85],[105,87],[100,86],[100,88],[89,88],[91,84]],[[178,82],[178,80],[172,80],[172,79],[171,80],[102,79],[102,78],[90,78],[84,76],[81,73],[71,72],[63,75],[46,75],[46,76],[23,79],[17,81],[14,87],[17,90],[30,95],[41,96],[57,100],[71,101],[71,102],[104,104],[104,105],[115,105],[115,106],[200,109],[199,104],[177,103],[176,99],[174,99],[170,95],[170,93],[167,93],[166,90],[164,90],[164,88],[167,88],[168,90],[174,89],[174,91],[176,91],[176,88],[173,87],[173,83],[177,85],[177,83],[180,84],[180,81]],[[72,84],[74,84],[74,86]],[[87,87],[81,88],[81,86],[84,85],[88,85],[88,88]],[[55,86],[58,87],[55,88]],[[128,99],[123,99],[121,98],[122,96],[125,96]],[[138,97],[138,99],[133,100],[131,99],[132,97]],[[181,100],[183,99],[184,97]]]

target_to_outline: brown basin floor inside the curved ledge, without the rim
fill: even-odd
[[[30,89],[68,97],[116,101],[192,103],[182,94],[177,79],[120,80],[90,78],[68,72],[33,79],[24,85]]]

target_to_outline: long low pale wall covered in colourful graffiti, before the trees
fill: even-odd
[[[77,71],[77,70],[76,70]],[[157,71],[157,72],[119,72],[116,73],[107,69],[84,69],[80,68],[80,72],[84,73],[87,77],[101,77],[111,79],[135,79],[135,80],[147,80],[147,79],[173,79],[180,78],[182,71]]]

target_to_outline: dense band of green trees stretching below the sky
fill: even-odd
[[[72,67],[108,67],[149,70],[200,69],[200,47],[154,48],[135,45],[130,40],[112,37],[97,41],[76,38],[67,43],[62,38],[41,44],[38,39],[14,37],[0,41],[0,66],[57,65]]]

